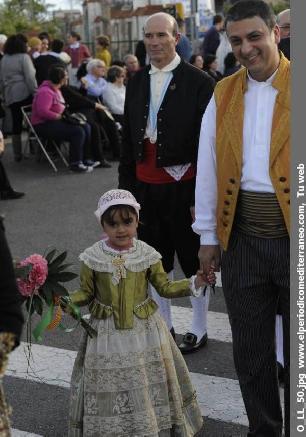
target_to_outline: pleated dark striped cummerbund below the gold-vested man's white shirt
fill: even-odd
[[[237,231],[260,238],[288,235],[275,193],[240,190],[234,226]]]

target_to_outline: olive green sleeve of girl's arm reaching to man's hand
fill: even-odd
[[[148,280],[154,286],[157,293],[163,298],[171,299],[192,296],[189,288],[190,279],[170,281],[167,273],[163,269],[161,260],[148,268],[147,275]]]

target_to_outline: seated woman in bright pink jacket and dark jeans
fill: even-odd
[[[41,138],[55,141],[69,141],[69,165],[71,172],[88,173],[93,170],[90,156],[90,126],[66,123],[62,114],[65,101],[60,88],[68,78],[67,70],[53,65],[49,80],[38,88],[32,104],[31,123]]]

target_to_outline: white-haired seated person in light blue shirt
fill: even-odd
[[[100,59],[92,59],[86,65],[87,74],[84,76],[87,80],[87,95],[97,101],[102,99],[103,91],[107,81],[103,78],[105,75],[105,63]]]

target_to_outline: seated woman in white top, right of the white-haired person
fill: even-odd
[[[108,83],[103,91],[103,103],[108,107],[116,122],[123,126],[123,113],[126,88],[123,85],[125,72],[117,65],[107,72]]]

